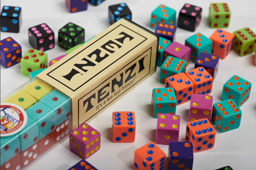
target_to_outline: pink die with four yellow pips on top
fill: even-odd
[[[158,114],[156,143],[169,145],[169,142],[179,140],[179,115]]]

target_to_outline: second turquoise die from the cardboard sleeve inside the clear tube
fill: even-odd
[[[39,139],[44,138],[56,127],[55,112],[42,102],[37,102],[26,110],[27,115],[37,122]]]

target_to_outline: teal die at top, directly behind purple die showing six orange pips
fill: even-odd
[[[158,23],[168,23],[175,25],[176,10],[160,4],[152,13],[150,20],[150,27],[156,29]]]

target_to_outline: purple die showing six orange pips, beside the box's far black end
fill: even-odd
[[[155,33],[171,42],[175,41],[176,26],[171,24],[159,23]]]

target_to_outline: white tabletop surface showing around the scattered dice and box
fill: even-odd
[[[46,22],[55,32],[57,42],[57,31],[67,24],[74,22],[85,28],[86,40],[105,30],[108,24],[108,6],[122,3],[120,0],[106,0],[98,6],[88,5],[88,10],[78,13],[69,13],[64,0],[1,0],[3,5],[19,6],[22,8],[22,25],[19,33],[1,32],[1,40],[11,36],[22,46],[22,54],[31,46],[28,43],[27,29]],[[132,20],[149,28],[150,14],[160,4],[165,4],[177,11],[177,17],[181,7],[190,1],[179,0],[126,0],[132,11]],[[211,2],[223,2],[219,0],[209,1],[193,0],[191,4],[203,8],[202,20],[197,32],[207,37],[215,29],[208,26],[207,16]],[[243,27],[250,27],[256,31],[256,1],[226,0],[231,9],[231,21],[227,31],[233,32]],[[177,20],[176,20],[177,21]],[[154,31],[153,29],[150,29]],[[195,34],[178,28],[176,40],[184,44],[185,39]],[[65,54],[65,50],[55,46],[54,49],[46,51],[48,61]],[[213,103],[220,101],[223,84],[234,74],[243,77],[252,83],[249,100],[241,107],[242,119],[238,129],[220,133],[216,126],[216,140],[214,148],[194,153],[194,170],[213,170],[230,165],[234,170],[255,170],[256,167],[256,67],[253,66],[254,54],[239,57],[232,51],[226,59],[220,59],[219,72],[214,80],[211,95]],[[194,67],[190,63],[187,71]],[[21,75],[20,64],[5,69],[1,66],[1,98],[15,90],[29,80],[29,77]],[[153,88],[164,87],[159,83],[159,67],[155,74],[139,84],[116,103],[108,107],[89,124],[101,133],[100,150],[87,159],[99,170],[129,170],[133,167],[133,156],[135,149],[146,143],[155,142],[157,119],[153,118],[151,109],[151,93]],[[185,141],[185,129],[189,116],[189,103],[177,106],[176,114],[180,115],[179,141]],[[136,113],[136,139],[134,143],[113,143],[111,141],[112,112],[133,111]],[[158,145],[168,154],[167,145]],[[69,142],[66,139],[56,148],[52,149],[41,159],[37,160],[27,170],[65,170],[80,161],[81,158],[69,150]],[[166,167],[166,169],[168,169]]]

